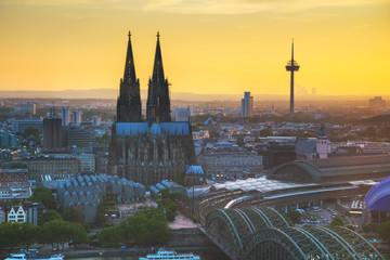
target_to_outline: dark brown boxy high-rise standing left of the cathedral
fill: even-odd
[[[61,118],[54,116],[43,119],[43,148],[63,148],[65,146]]]

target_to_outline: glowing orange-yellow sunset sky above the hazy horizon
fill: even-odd
[[[390,0],[1,0],[0,90],[141,88],[156,31],[173,92],[390,94]]]

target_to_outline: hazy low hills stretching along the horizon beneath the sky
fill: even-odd
[[[30,91],[30,90],[0,90],[0,99],[117,99],[118,89],[62,90],[62,91]],[[145,100],[147,91],[141,90],[141,98]],[[240,101],[243,94],[196,94],[190,92],[172,92],[172,100],[183,101]],[[253,94],[255,101],[287,101],[289,95]],[[372,96],[363,95],[296,95],[296,100],[321,101],[368,101]],[[386,96],[384,96],[386,99]]]

